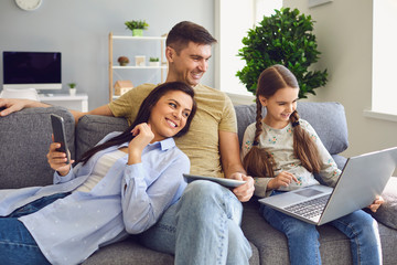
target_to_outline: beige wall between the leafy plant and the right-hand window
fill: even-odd
[[[330,76],[326,86],[318,88],[318,95],[309,100],[344,105],[350,139],[345,156],[397,146],[396,121],[363,116],[372,104],[373,1],[334,0],[312,9],[308,2],[285,0],[283,7],[298,8],[316,21],[315,35],[322,52],[318,67],[326,67]]]

